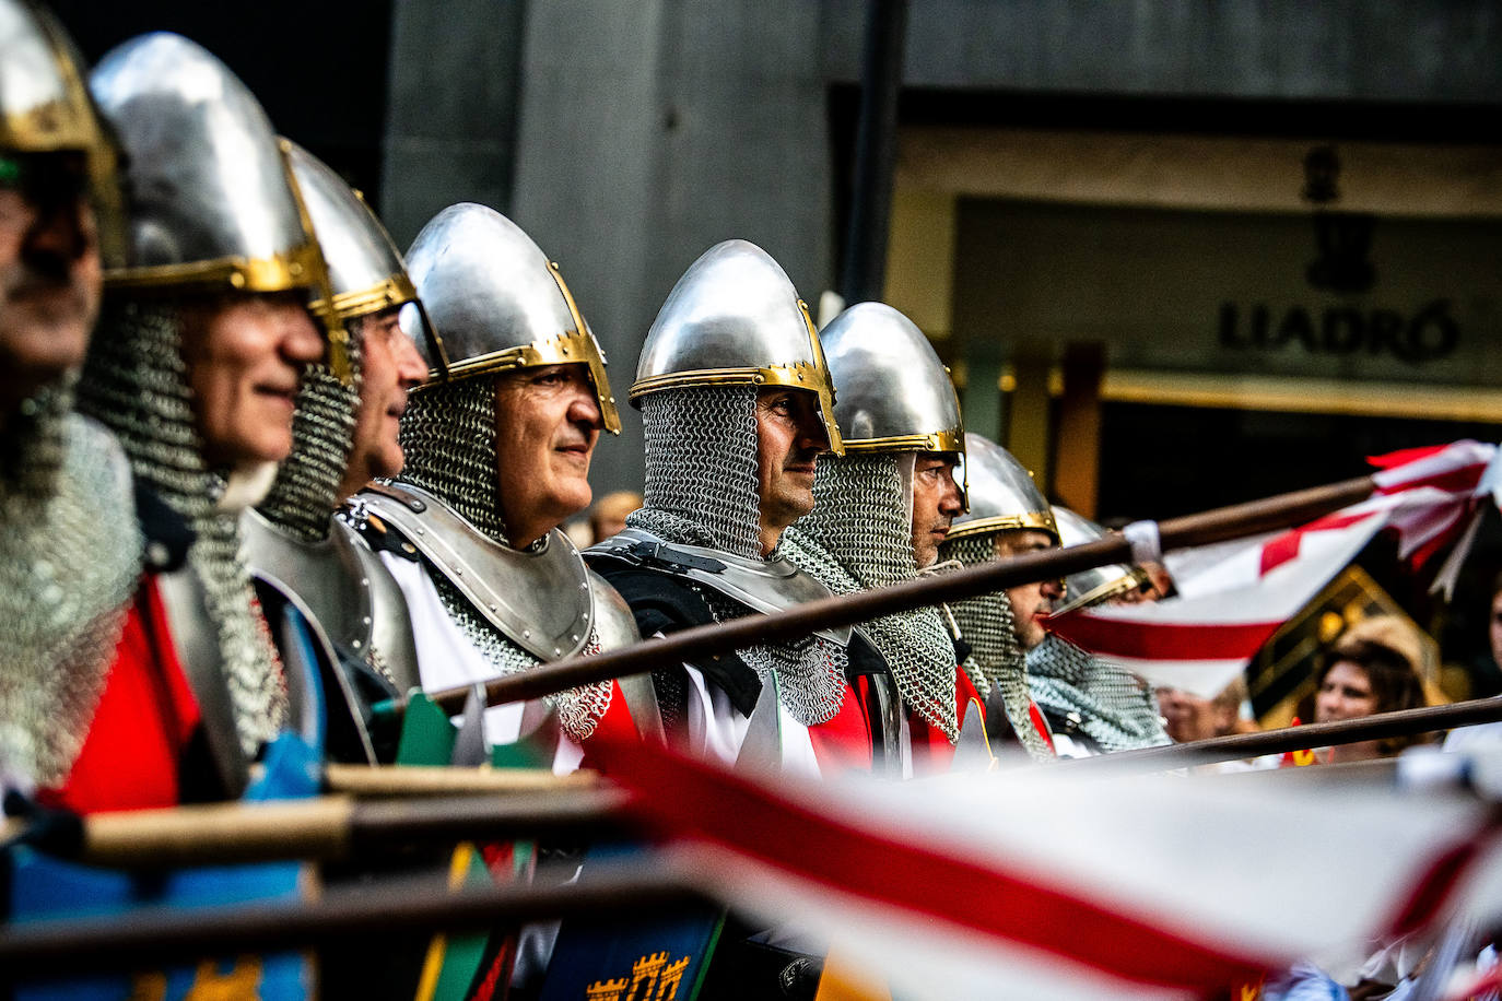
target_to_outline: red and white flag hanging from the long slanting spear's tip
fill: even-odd
[[[1457,441],[1371,462],[1368,500],[1287,531],[1170,552],[1178,596],[1068,612],[1048,629],[1155,686],[1212,698],[1383,528],[1415,566],[1464,536],[1440,573],[1452,581],[1496,489],[1497,447]]]

